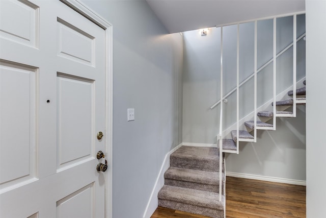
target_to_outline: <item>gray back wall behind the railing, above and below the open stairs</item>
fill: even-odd
[[[273,20],[257,25],[258,68],[273,57]],[[223,28],[223,92],[236,86],[236,26]],[[298,36],[305,32],[305,15],[297,17]],[[198,31],[184,33],[183,142],[216,143],[220,105],[221,28],[211,28],[207,36]],[[240,25],[240,82],[254,69],[254,23]],[[292,42],[293,18],[277,19],[277,52]],[[277,93],[292,84],[292,48],[277,58]],[[297,43],[297,79],[305,76],[305,41]],[[257,105],[273,98],[273,63],[257,76]],[[303,84],[302,84],[303,86]],[[240,87],[240,117],[253,111],[253,79]],[[287,96],[284,96],[287,98]],[[223,128],[236,122],[236,92],[223,104]],[[270,106],[269,108],[273,108]],[[240,154],[227,155],[228,172],[306,180],[305,106],[298,107],[296,118],[278,118],[276,131],[258,131],[257,143],[240,143]]]

